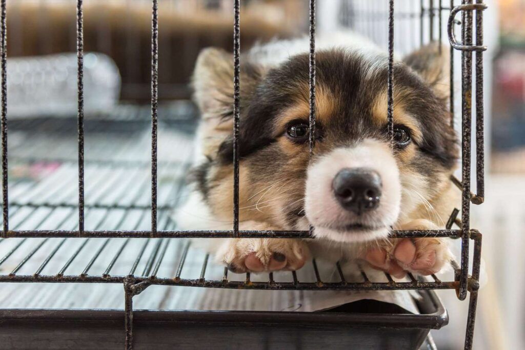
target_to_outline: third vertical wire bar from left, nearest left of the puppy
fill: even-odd
[[[157,133],[159,98],[158,0],[152,0],[151,15],[151,236],[157,233]]]

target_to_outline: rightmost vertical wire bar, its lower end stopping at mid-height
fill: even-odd
[[[481,0],[476,0],[482,4]],[[483,46],[483,10],[476,10],[476,46]],[[475,204],[485,200],[485,135],[483,106],[483,51],[476,51],[476,197]]]

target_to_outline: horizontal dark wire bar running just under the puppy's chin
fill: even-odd
[[[156,238],[232,238],[233,230],[160,230]],[[393,230],[390,238],[460,237],[461,230]],[[80,237],[92,238],[149,238],[149,230],[92,230],[83,231]],[[78,237],[76,230],[9,230],[8,238],[14,237]],[[315,238],[310,231],[239,230],[240,238]]]

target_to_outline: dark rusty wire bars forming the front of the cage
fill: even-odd
[[[480,254],[481,254],[481,234],[470,227],[470,204],[481,204],[484,201],[484,110],[483,110],[483,54],[486,49],[483,46],[483,31],[482,31],[482,11],[487,7],[480,0],[472,3],[472,0],[463,0],[460,5],[455,6],[454,1],[451,0],[449,7],[444,7],[442,0],[429,1],[429,6],[425,7],[424,1],[421,1],[421,8],[419,14],[415,14],[413,19],[420,21],[421,31],[419,33],[419,40],[421,44],[425,42],[423,22],[428,18],[429,39],[430,41],[442,39],[442,13],[449,13],[447,31],[448,40],[450,42],[450,114],[451,125],[454,124],[454,51],[461,52],[461,180],[452,178],[451,181],[458,186],[462,191],[461,199],[461,218],[458,219],[459,210],[455,209],[448,219],[445,229],[440,230],[394,230],[390,237],[392,238],[417,238],[417,237],[448,237],[461,239],[461,257],[459,262],[451,262],[454,270],[454,277],[450,281],[442,281],[435,275],[429,280],[418,280],[409,274],[409,281],[396,282],[390,275],[386,274],[387,282],[372,281],[366,273],[361,270],[362,282],[346,281],[341,266],[336,264],[335,268],[339,272],[340,280],[337,282],[323,281],[317,267],[317,262],[313,260],[313,269],[316,275],[314,282],[301,282],[297,278],[295,271],[290,273],[290,280],[288,282],[276,282],[273,274],[269,273],[268,282],[251,281],[249,273],[246,274],[244,281],[234,281],[228,278],[228,270],[225,268],[222,279],[211,280],[206,279],[206,272],[208,266],[208,258],[203,259],[201,273],[196,278],[187,279],[181,278],[184,268],[190,242],[185,243],[184,249],[176,273],[173,276],[160,277],[158,275],[159,269],[166,256],[166,251],[169,249],[172,238],[313,238],[312,230],[304,231],[276,231],[276,230],[239,230],[239,128],[240,128],[240,0],[234,0],[234,26],[233,26],[233,68],[234,68],[234,102],[233,102],[233,164],[234,164],[234,203],[233,203],[233,227],[231,230],[198,230],[198,231],[181,231],[175,230],[167,224],[163,219],[163,213],[167,209],[158,204],[158,130],[159,130],[159,107],[158,107],[158,90],[159,90],[159,7],[158,0],[152,0],[152,17],[151,17],[151,205],[149,207],[141,207],[140,209],[151,210],[151,229],[131,229],[120,230],[118,228],[111,230],[85,229],[86,213],[93,208],[110,209],[116,208],[113,206],[94,207],[86,205],[85,192],[85,136],[84,136],[84,108],[83,108],[83,2],[77,0],[77,58],[78,58],[78,115],[77,115],[77,130],[78,130],[78,229],[40,229],[40,224],[35,229],[18,229],[18,226],[9,227],[9,215],[17,213],[23,205],[17,203],[9,203],[8,200],[8,150],[7,150],[7,47],[6,47],[6,0],[0,1],[1,10],[1,33],[0,33],[0,66],[1,66],[1,84],[2,84],[2,119],[1,119],[1,134],[2,134],[2,206],[3,206],[3,240],[0,244],[8,239],[19,239],[5,256],[0,257],[0,266],[10,257],[18,252],[29,249],[27,254],[19,261],[12,271],[8,274],[0,274],[0,282],[79,282],[79,283],[121,283],[125,292],[125,347],[132,348],[133,346],[133,296],[140,294],[150,285],[180,285],[187,287],[213,287],[213,288],[234,288],[234,289],[265,289],[265,290],[402,290],[402,289],[417,289],[417,290],[433,290],[433,289],[453,289],[456,290],[459,300],[464,300],[467,294],[470,293],[469,298],[469,313],[466,327],[465,348],[472,347],[472,337],[474,334],[474,322],[477,302],[477,290],[479,288],[479,273],[480,273]],[[461,13],[461,22],[458,23],[456,15]],[[474,17],[475,13],[475,17]],[[438,36],[436,38],[435,26],[437,18]],[[394,0],[388,1],[388,28],[387,28],[387,44],[388,44],[388,78],[387,84],[387,120],[388,120],[388,137],[393,137],[393,66],[394,66]],[[475,23],[475,43],[473,43],[473,23]],[[458,43],[455,37],[454,27],[461,25],[461,43]],[[416,34],[417,36],[417,34]],[[471,192],[471,114],[472,114],[472,52],[476,52],[475,57],[475,143],[476,143],[476,193]],[[313,152],[316,142],[316,1],[309,2],[309,152],[310,156]],[[9,206],[12,209],[9,212]],[[71,213],[75,206],[61,205],[63,208],[71,209]],[[54,210],[56,206],[49,206]],[[125,208],[130,210],[131,207]],[[33,211],[36,210],[36,207]],[[33,213],[31,211],[28,216]],[[128,214],[126,214],[128,215]],[[125,220],[123,216],[121,220]],[[44,220],[44,219],[43,219]],[[67,218],[64,218],[65,222]],[[453,228],[456,225],[458,228]],[[59,239],[60,238],[60,239]],[[82,241],[72,250],[67,261],[60,269],[54,273],[43,273],[47,271],[49,262],[53,261],[62,247],[64,247],[66,240],[72,238],[80,238]],[[87,260],[85,268],[79,274],[68,273],[68,268],[71,263],[78,259],[80,254],[85,250],[90,239],[103,238],[101,245],[93,252],[90,259]],[[31,239],[41,239],[36,245],[29,245]],[[59,239],[59,240],[54,240]],[[114,252],[106,268],[101,274],[90,274],[93,264],[104,254],[104,251],[109,247],[112,239],[119,239],[119,248]],[[111,271],[116,262],[127,253],[130,242],[133,239],[144,239],[141,248],[136,252],[133,262],[129,267],[129,273],[112,274]],[[469,242],[474,242],[474,257],[472,262],[472,272],[469,274]],[[50,242],[53,242],[52,247],[47,247]],[[38,252],[41,252],[43,247],[47,247],[48,254],[46,254],[43,262],[38,266],[36,271],[32,274],[20,274],[25,264]],[[150,250],[151,249],[151,250]],[[147,251],[147,253],[146,253]],[[144,264],[142,270],[139,266]],[[141,271],[141,272],[138,272]]]

